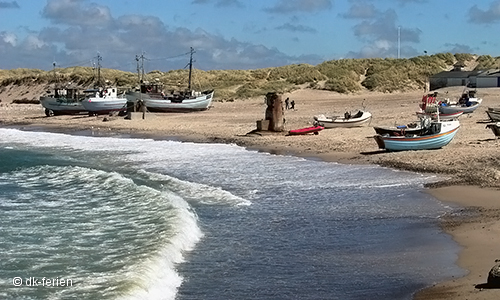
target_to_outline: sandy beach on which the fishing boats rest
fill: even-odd
[[[454,87],[438,90],[438,93],[440,97],[454,99],[462,90],[462,87]],[[468,275],[436,283],[418,293],[416,299],[498,299],[500,289],[477,286],[486,283],[488,271],[495,259],[500,259],[500,139],[485,128],[488,123],[485,111],[489,106],[500,105],[500,89],[478,89],[478,96],[483,98],[481,107],[460,117],[460,130],[446,147],[406,152],[379,150],[372,138],[375,134],[372,127],[415,122],[422,94],[422,91],[414,91],[344,95],[299,89],[282,95],[283,99],[289,97],[295,101],[295,109],[285,110],[286,130],[311,126],[317,114],[343,115],[346,110],[355,112],[361,108],[371,112],[373,119],[369,125],[359,128],[287,136],[286,132],[254,132],[256,121],[264,118],[264,97],[214,102],[209,110],[197,113],[147,113],[145,119],[126,120],[119,116],[46,117],[41,105],[11,104],[16,95],[4,89],[0,94],[0,125],[233,143],[270,153],[438,174],[443,180],[427,191],[463,212],[445,216],[442,226],[463,247],[457,264],[468,270]]]

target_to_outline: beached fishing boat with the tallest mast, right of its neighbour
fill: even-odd
[[[126,93],[126,98],[134,103],[144,105],[151,112],[192,112],[207,110],[212,103],[214,90],[203,92],[191,88],[193,69],[193,53],[191,48],[189,59],[189,80],[186,91],[165,92],[160,83],[149,83],[141,80],[138,90]],[[142,59],[143,56],[141,56]]]

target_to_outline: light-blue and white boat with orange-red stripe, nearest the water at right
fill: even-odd
[[[458,120],[425,122],[425,130],[418,134],[378,134],[375,141],[380,149],[388,151],[439,149],[448,145],[460,128]]]

